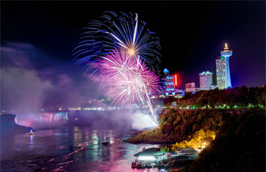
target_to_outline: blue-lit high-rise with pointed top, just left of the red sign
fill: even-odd
[[[168,69],[163,70],[163,92],[168,95],[175,95],[175,77],[169,75]]]

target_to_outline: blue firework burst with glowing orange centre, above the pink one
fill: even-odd
[[[98,58],[114,49],[122,50],[133,58],[140,58],[152,69],[158,68],[161,49],[159,38],[151,32],[137,14],[105,12],[85,28],[81,41],[74,49],[78,62],[86,62],[87,70],[93,68]]]

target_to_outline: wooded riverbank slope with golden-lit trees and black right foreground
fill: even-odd
[[[199,158],[180,171],[265,171],[265,109],[169,110],[160,128],[127,139],[132,144],[159,140],[165,151],[198,147],[209,139]]]

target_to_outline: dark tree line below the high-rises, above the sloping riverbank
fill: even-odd
[[[229,87],[227,89],[202,90],[199,92],[187,92],[181,98],[165,98],[165,105],[176,102],[179,107],[265,107],[266,92],[262,87]]]

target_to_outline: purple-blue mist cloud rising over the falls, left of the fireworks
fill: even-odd
[[[73,107],[99,96],[84,69],[73,64],[33,44],[6,42],[1,46],[1,110]]]

